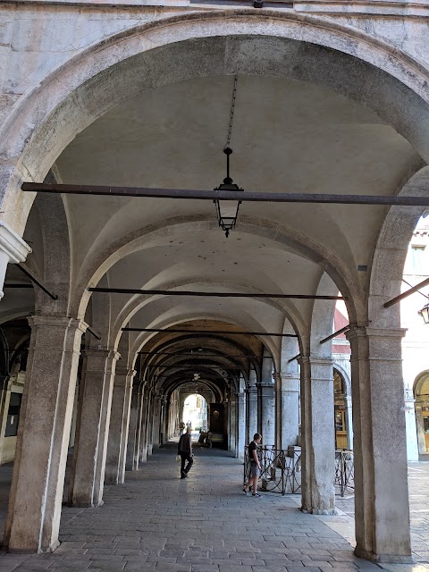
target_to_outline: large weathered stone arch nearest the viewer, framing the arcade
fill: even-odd
[[[312,81],[363,102],[429,158],[429,122],[416,120],[428,115],[426,70],[409,56],[313,16],[194,13],[92,46],[22,97],[1,131],[8,162],[4,220],[21,233],[33,200],[21,194],[21,181],[43,180],[71,139],[123,99],[190,77],[237,72]]]

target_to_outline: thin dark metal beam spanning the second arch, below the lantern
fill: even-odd
[[[314,296],[312,294],[252,294],[248,292],[201,292],[192,290],[140,290],[139,288],[88,288],[90,292],[111,294],[141,294],[150,296],[201,296],[215,298],[279,298],[310,300],[347,300],[343,296]]]

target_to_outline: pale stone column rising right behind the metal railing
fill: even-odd
[[[275,447],[287,450],[299,434],[299,372],[274,375]]]

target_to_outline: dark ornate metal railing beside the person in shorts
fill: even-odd
[[[296,494],[301,488],[301,453],[299,450],[282,450],[274,447],[258,447],[257,456],[261,464],[260,488],[267,492]],[[248,447],[244,448],[244,483],[250,476]],[[354,465],[352,450],[335,451],[335,494],[343,497],[353,493]]]

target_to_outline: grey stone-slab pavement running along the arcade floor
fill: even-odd
[[[0,572],[370,572],[335,526],[351,518],[299,512],[299,499],[241,492],[242,465],[219,450],[196,450],[179,479],[174,450],[156,452],[98,509],[63,509],[62,545],[52,554],[0,556]],[[345,506],[350,501],[341,501]],[[427,503],[427,496],[426,501]],[[427,535],[427,530],[425,532]],[[412,567],[408,567],[411,569]],[[392,568],[393,569],[393,568]]]

